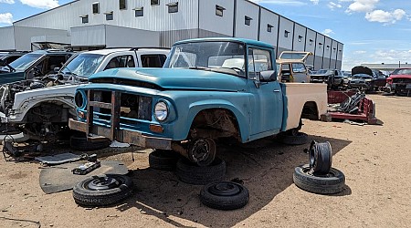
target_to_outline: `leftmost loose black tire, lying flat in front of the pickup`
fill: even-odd
[[[88,185],[98,178],[113,178],[119,181],[119,186],[107,190],[92,190]],[[132,179],[125,175],[106,174],[93,176],[79,181],[73,188],[73,198],[82,206],[104,206],[121,202],[132,195]]]

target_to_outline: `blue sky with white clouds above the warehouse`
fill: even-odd
[[[342,42],[342,69],[364,63],[411,63],[409,0],[252,1]],[[0,0],[0,26],[68,2]]]

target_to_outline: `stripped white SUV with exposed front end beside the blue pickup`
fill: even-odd
[[[112,48],[78,53],[58,74],[5,84],[0,88],[2,124],[30,139],[56,140],[76,116],[74,92],[90,75],[119,67],[163,67],[167,48]],[[1,77],[1,76],[0,76]],[[119,78],[121,81],[126,78]]]

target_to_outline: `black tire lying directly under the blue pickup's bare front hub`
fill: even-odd
[[[216,158],[208,166],[198,166],[186,159],[177,161],[175,174],[184,183],[203,185],[222,181],[226,175],[226,161]]]

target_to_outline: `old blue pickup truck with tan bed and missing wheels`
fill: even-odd
[[[176,150],[199,165],[216,140],[246,143],[297,132],[327,109],[325,84],[280,83],[269,44],[200,38],[174,44],[163,68],[117,68],[78,88],[69,127],[143,148]]]

